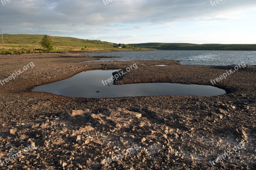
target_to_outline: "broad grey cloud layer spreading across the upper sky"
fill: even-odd
[[[0,27],[8,33],[88,35],[142,30],[141,25],[230,20],[256,10],[255,0],[11,0],[0,4]],[[5,31],[6,32],[6,31]],[[130,36],[120,33],[112,37]],[[136,33],[137,34],[137,33]]]

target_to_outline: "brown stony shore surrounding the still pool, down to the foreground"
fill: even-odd
[[[31,92],[82,71],[134,63],[138,69],[115,84],[212,85],[211,79],[234,68],[171,60],[82,63],[98,59],[74,53],[0,56],[0,80],[35,66],[0,84],[0,169],[256,168],[255,66],[216,83],[227,92],[221,96],[87,99]]]

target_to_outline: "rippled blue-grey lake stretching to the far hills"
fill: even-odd
[[[256,51],[128,51],[110,53],[82,53],[90,56],[113,55],[121,58],[101,61],[179,60],[186,65],[256,65]]]

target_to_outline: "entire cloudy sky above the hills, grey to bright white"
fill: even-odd
[[[123,44],[256,44],[255,0],[8,1],[0,0],[0,28],[8,34]]]

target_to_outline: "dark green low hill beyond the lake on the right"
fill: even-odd
[[[135,45],[158,50],[256,50],[256,44],[143,43]]]

